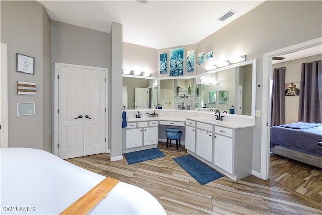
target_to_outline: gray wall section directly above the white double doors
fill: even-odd
[[[52,68],[54,63],[109,68],[110,34],[51,21]]]

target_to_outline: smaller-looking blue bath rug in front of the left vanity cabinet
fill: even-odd
[[[166,156],[157,148],[141,150],[136,152],[125,153],[125,158],[128,164],[135,164],[142,161],[152,160],[155,158],[160,158]]]

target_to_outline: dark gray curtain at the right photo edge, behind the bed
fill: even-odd
[[[302,64],[298,121],[322,122],[322,61]]]

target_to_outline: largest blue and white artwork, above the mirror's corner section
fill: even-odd
[[[170,49],[170,76],[183,75],[183,48]]]

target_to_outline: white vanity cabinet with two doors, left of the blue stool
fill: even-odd
[[[127,123],[123,129],[123,153],[157,147],[158,121]]]

